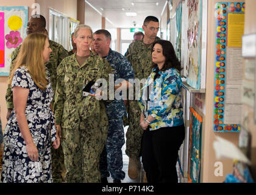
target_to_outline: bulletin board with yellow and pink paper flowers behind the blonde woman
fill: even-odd
[[[0,76],[9,76],[11,54],[26,37],[28,6],[0,7]]]

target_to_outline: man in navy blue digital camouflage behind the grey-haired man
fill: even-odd
[[[134,71],[130,62],[116,51],[110,49],[111,34],[107,30],[97,30],[93,34],[93,46],[95,52],[106,59],[112,67],[115,74],[113,83],[117,79],[123,79],[121,83],[115,85],[115,89],[127,90],[132,87],[129,79],[134,79]],[[101,171],[102,183],[107,182],[107,177],[112,176],[114,183],[121,183],[126,176],[123,169],[123,152],[124,141],[123,116],[127,115],[123,98],[116,99],[113,102],[105,104],[108,116],[107,141],[101,154],[99,167]],[[110,174],[109,174],[110,172]]]

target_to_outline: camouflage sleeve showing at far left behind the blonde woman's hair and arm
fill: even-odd
[[[19,47],[20,48],[20,47]],[[12,73],[12,69],[13,69],[13,63],[14,60],[16,59],[17,55],[18,55],[18,51],[19,48],[16,48],[13,52],[12,52],[12,62],[10,64],[10,73]],[[9,74],[10,77],[10,74]],[[6,101],[6,105],[8,109],[13,109],[13,95],[12,95],[12,88],[11,86],[8,84],[7,86],[7,90],[6,90],[6,94],[5,94],[5,101]]]

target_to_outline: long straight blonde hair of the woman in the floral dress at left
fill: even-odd
[[[44,43],[48,39],[46,35],[41,33],[32,33],[27,35],[21,44],[20,52],[14,62],[14,68],[10,74],[9,84],[12,84],[13,75],[16,69],[26,66],[30,76],[35,84],[44,90],[48,85],[45,74],[45,65],[43,60]]]

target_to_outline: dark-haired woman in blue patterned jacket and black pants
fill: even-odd
[[[153,44],[152,62],[139,100],[143,168],[149,183],[177,183],[178,151],[185,138],[181,66],[171,42],[165,40]]]

